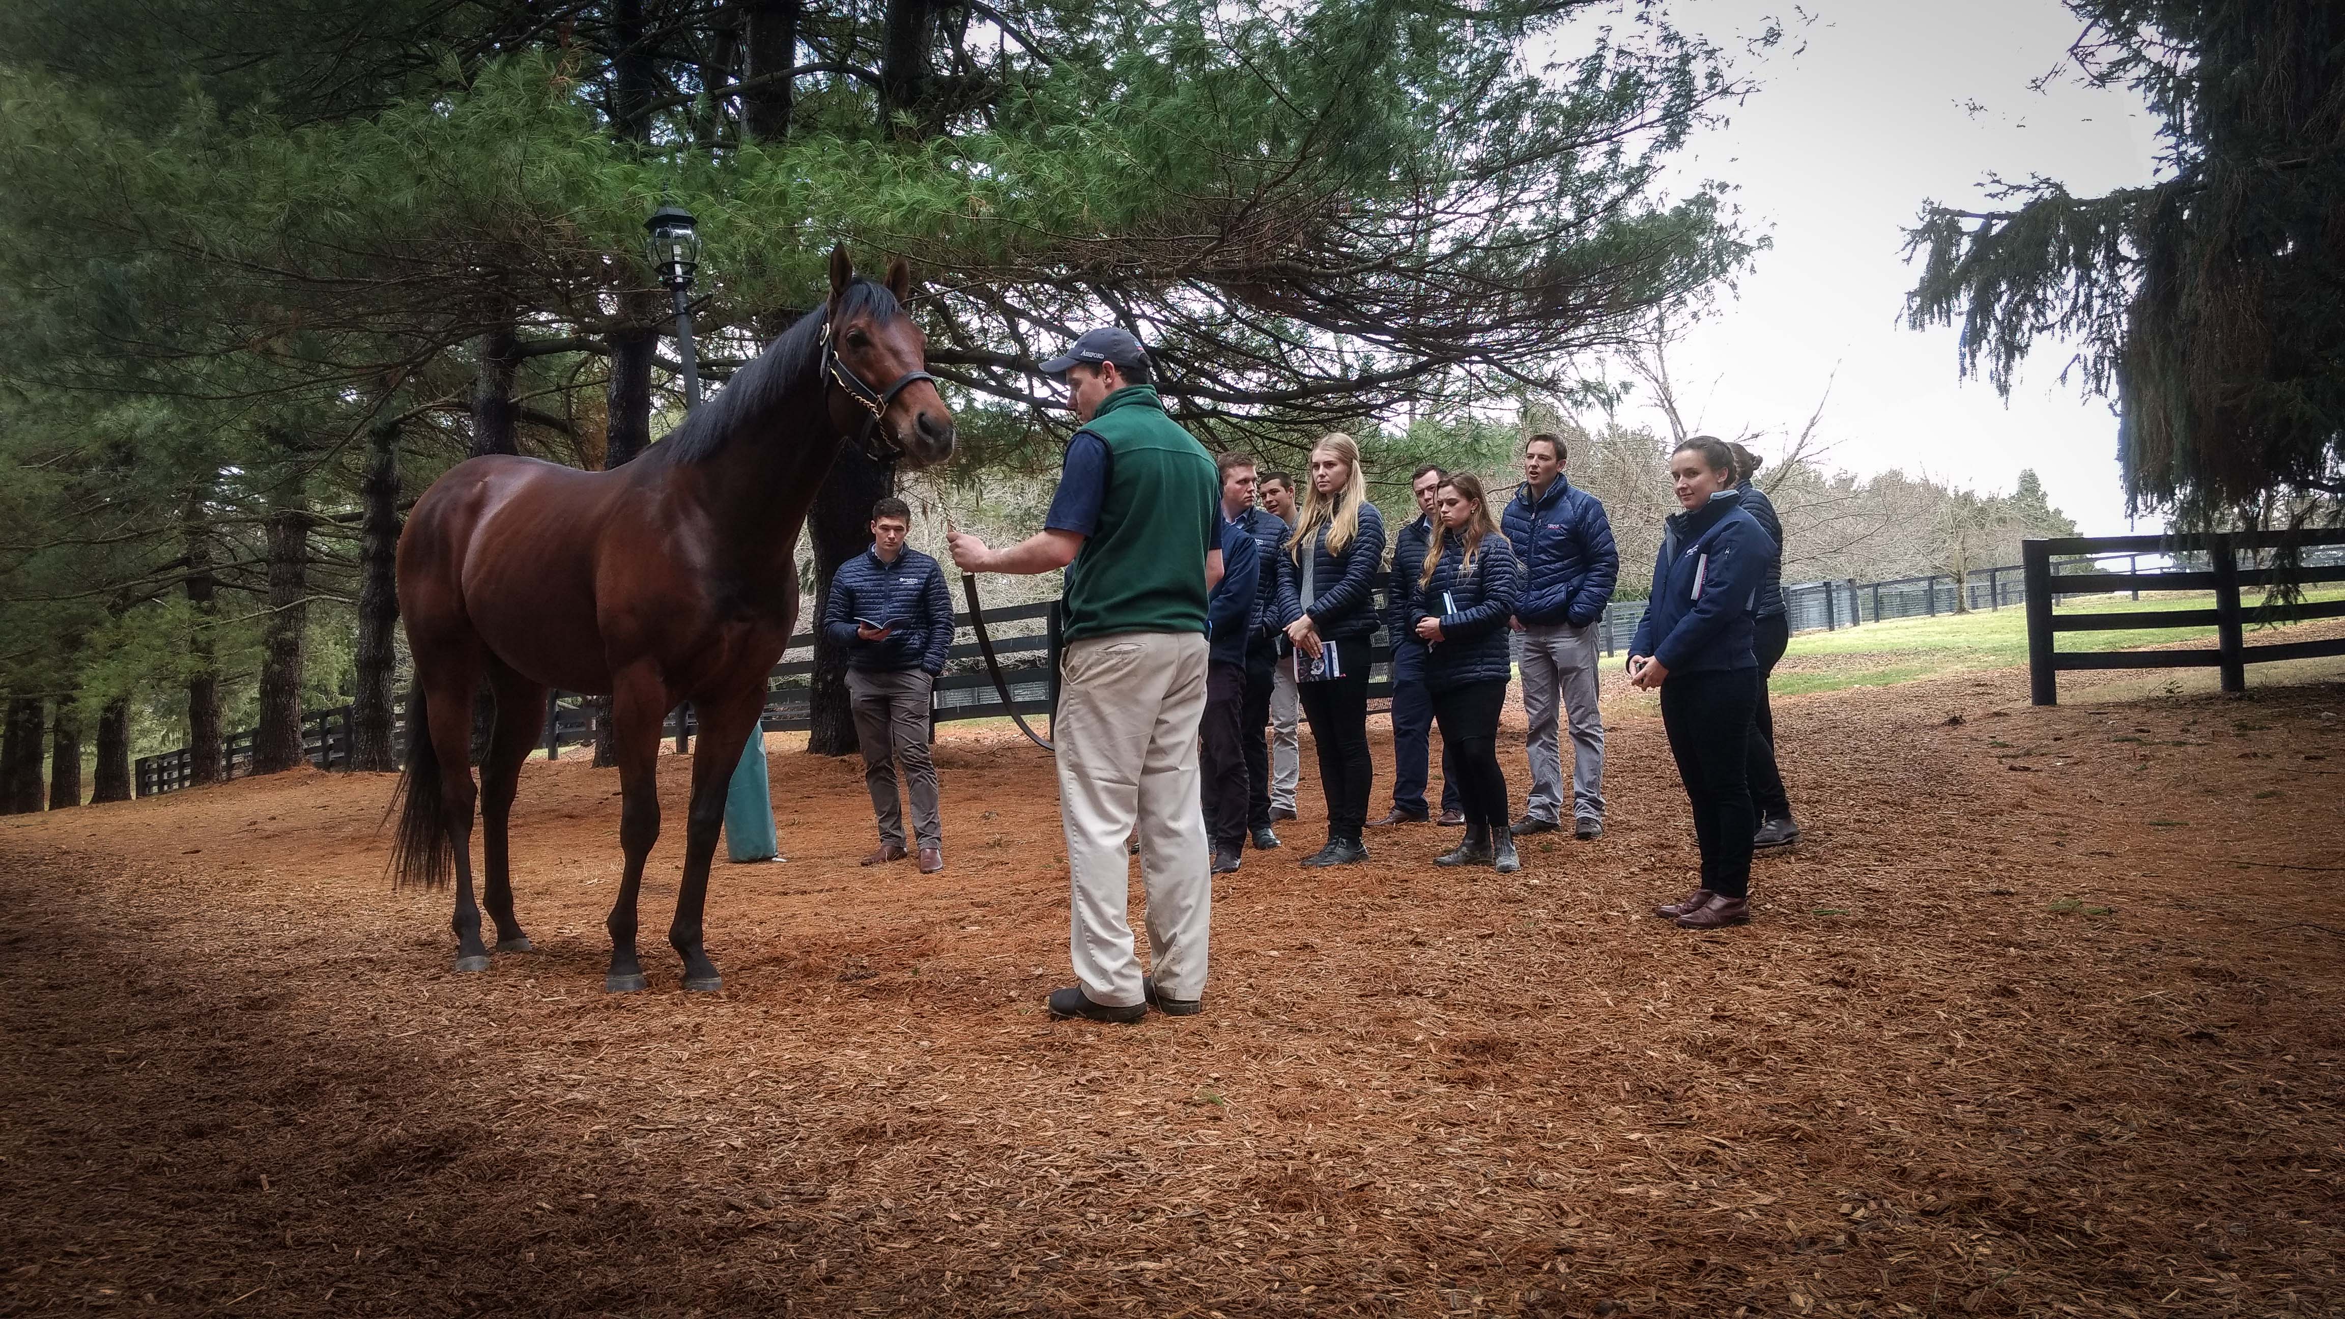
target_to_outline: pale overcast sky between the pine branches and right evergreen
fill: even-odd
[[[1674,19],[1740,49],[1733,38],[1768,12],[1782,5],[1688,0]],[[1928,469],[1979,491],[2010,491],[2033,467],[2085,535],[2129,530],[2115,418],[2059,383],[2068,354],[2040,345],[2010,404],[1984,380],[1960,380],[1956,331],[1902,326],[1916,268],[1899,249],[1925,197],[1982,207],[1989,171],[2045,174],[2082,195],[2146,183],[2148,115],[2125,92],[2073,80],[2028,89],[2078,35],[2059,0],[1824,0],[1810,14],[1806,52],[1747,66],[1759,94],[1681,162],[1688,176],[1731,183],[1752,228],[1775,242],[1672,359],[1686,420],[1770,432],[1759,448],[1780,453],[1829,378],[1829,465]],[[1639,404],[1623,420],[1658,425]]]

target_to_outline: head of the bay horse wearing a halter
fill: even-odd
[[[952,413],[929,376],[929,336],[903,310],[910,296],[903,258],[879,286],[856,279],[847,244],[830,249],[830,420],[872,458],[929,467],[952,458]]]

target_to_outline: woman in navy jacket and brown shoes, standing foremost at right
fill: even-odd
[[[1742,509],[1735,455],[1724,441],[1679,444],[1670,481],[1686,512],[1663,530],[1627,676],[1660,688],[1660,723],[1702,847],[1702,882],[1656,911],[1686,929],[1719,929],[1749,920],[1756,819],[1747,753],[1759,709],[1752,606],[1775,542]]]

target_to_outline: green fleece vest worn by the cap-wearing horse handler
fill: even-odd
[[[1083,429],[1107,444],[1107,498],[1067,566],[1065,638],[1205,631],[1205,549],[1222,530],[1222,481],[1205,446],[1149,385],[1102,399]]]

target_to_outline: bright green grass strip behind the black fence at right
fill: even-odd
[[[2345,587],[2305,591],[2305,601],[2345,598]],[[2146,596],[2068,596],[2059,613],[2134,613],[2193,610],[2214,603],[2209,591]],[[2120,631],[2064,631],[2059,650],[2127,650],[2174,641],[2214,638],[2211,627],[2129,627]],[[2256,634],[2249,631],[2249,645]],[[2024,606],[1972,610],[1967,615],[1902,617],[1867,622],[1838,631],[1803,631],[1792,638],[1782,669],[1775,669],[1775,695],[1834,692],[1841,688],[1881,688],[1911,683],[1967,669],[2005,669],[2028,662],[2028,620]]]

